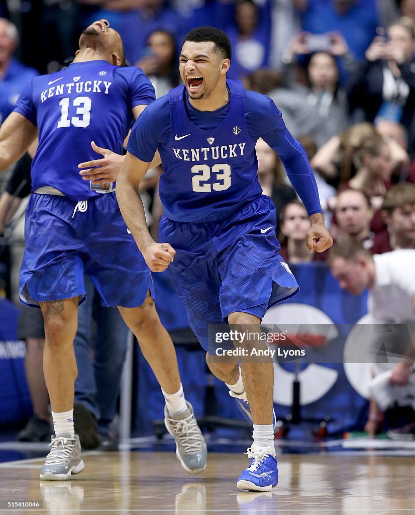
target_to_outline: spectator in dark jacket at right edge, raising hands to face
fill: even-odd
[[[349,84],[349,102],[356,121],[373,123],[377,117],[401,123],[409,133],[409,150],[415,150],[415,24],[401,18],[377,36],[366,50]]]

